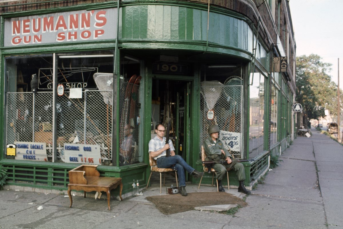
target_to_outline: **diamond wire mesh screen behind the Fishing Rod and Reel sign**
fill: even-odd
[[[104,103],[102,91],[85,91],[83,98],[59,96],[56,104],[58,157],[59,142],[100,146],[100,157],[112,159],[112,106]]]

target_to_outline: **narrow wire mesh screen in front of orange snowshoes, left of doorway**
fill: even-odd
[[[123,82],[120,91],[120,134],[119,134],[119,161],[120,165],[138,162],[138,134],[137,118],[139,116],[139,81],[135,83]]]

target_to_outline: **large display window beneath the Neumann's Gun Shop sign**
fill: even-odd
[[[113,50],[5,57],[7,158],[112,165],[113,63]]]

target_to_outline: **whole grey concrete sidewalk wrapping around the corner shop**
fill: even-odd
[[[223,205],[163,215],[145,200],[165,195],[154,181],[141,196],[111,199],[110,211],[106,198],[74,196],[69,208],[66,195],[1,190],[0,228],[343,228],[342,152],[342,145],[315,130],[309,138],[296,138],[234,217],[216,212],[232,207]],[[186,188],[216,191],[206,185]],[[234,188],[226,192],[245,196]]]

